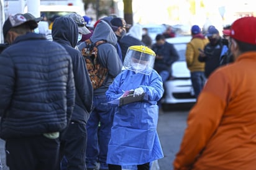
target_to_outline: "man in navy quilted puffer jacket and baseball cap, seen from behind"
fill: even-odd
[[[35,34],[35,20],[9,16],[0,55],[0,137],[9,169],[57,169],[60,132],[75,105],[73,65],[61,45]]]

